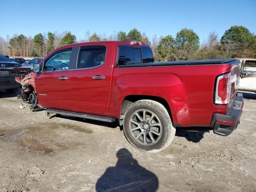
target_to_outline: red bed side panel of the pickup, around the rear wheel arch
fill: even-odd
[[[214,105],[216,76],[231,65],[157,66],[114,68],[109,114],[119,118],[122,102],[129,95],[164,98],[173,123],[210,126],[214,113],[226,114],[227,106]]]

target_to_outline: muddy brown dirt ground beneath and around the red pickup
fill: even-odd
[[[16,94],[0,91],[0,192],[256,191],[254,93],[230,136],[177,130],[155,154],[114,124],[20,109]]]

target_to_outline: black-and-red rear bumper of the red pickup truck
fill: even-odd
[[[242,109],[244,106],[244,98],[242,93],[237,93],[233,106],[226,115],[214,114],[212,117],[211,127],[213,132],[218,135],[228,136],[238,126]]]

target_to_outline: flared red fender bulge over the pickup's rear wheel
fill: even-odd
[[[119,77],[113,85],[109,116],[119,118],[124,99],[131,95],[138,95],[140,98],[141,96],[163,98],[170,107],[174,123],[178,122],[178,118],[189,118],[186,90],[176,74],[124,74]]]

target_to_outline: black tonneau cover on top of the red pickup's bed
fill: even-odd
[[[190,60],[190,61],[169,61],[153,63],[136,63],[119,65],[118,67],[143,67],[143,66],[177,66],[177,65],[212,65],[212,64],[236,64],[236,59],[211,59],[211,60]],[[232,63],[230,63],[232,62]],[[239,61],[237,61],[239,62]]]

